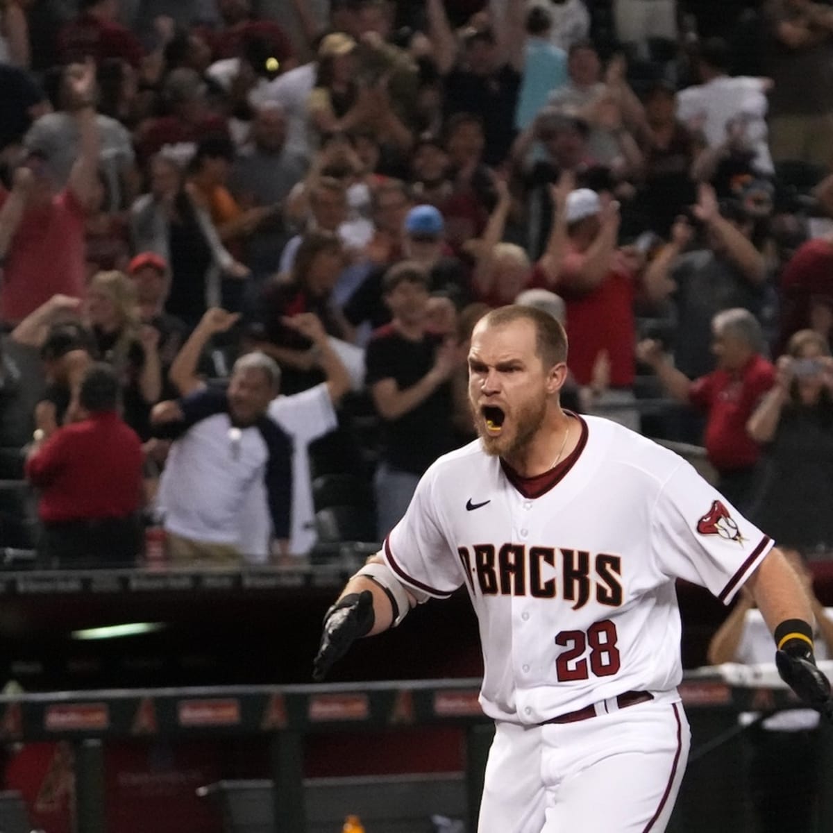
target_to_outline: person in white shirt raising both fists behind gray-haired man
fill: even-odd
[[[171,366],[170,379],[183,395],[200,390],[205,383],[197,376],[203,348],[213,335],[226,332],[237,322],[237,315],[210,309],[182,347]],[[347,368],[332,347],[322,323],[313,313],[287,319],[287,324],[309,338],[317,352],[317,362],[327,381],[291,397],[276,396],[269,403],[267,416],[292,438],[292,515],[288,553],[306,555],[315,546],[315,510],[312,504],[312,476],[307,453],[311,442],[337,427],[335,407],[352,387]],[[277,393],[277,392],[276,392]],[[261,482],[252,486],[235,523],[237,547],[248,563],[268,561],[270,541],[276,533],[267,511],[267,489]]]

